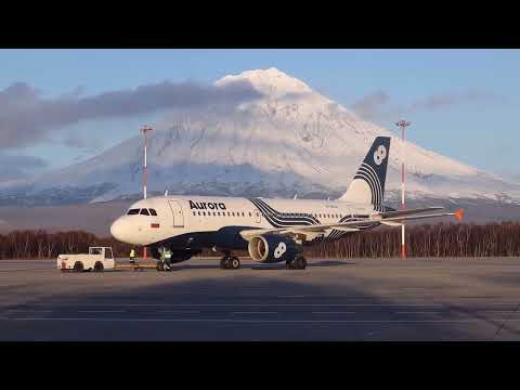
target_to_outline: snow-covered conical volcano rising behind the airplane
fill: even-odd
[[[248,81],[262,98],[204,112],[173,110],[155,126],[148,187],[170,194],[339,197],[377,135],[392,136],[387,199],[400,188],[401,141],[304,82],[270,68],[214,82]],[[142,138],[23,185],[3,203],[34,198],[109,200],[141,192]],[[520,199],[520,185],[406,144],[410,197]]]

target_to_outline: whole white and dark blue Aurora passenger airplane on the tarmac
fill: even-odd
[[[302,248],[333,242],[379,225],[401,226],[406,221],[454,216],[464,210],[431,212],[443,207],[396,210],[382,204],[390,138],[377,136],[348,191],[336,200],[261,197],[150,197],[130,206],[110,226],[119,242],[145,246],[157,259],[157,270],[186,261],[203,249],[221,252],[222,269],[238,269],[233,251],[247,250],[262,263],[285,261],[292,270],[307,268]],[[170,261],[159,260],[164,250]]]

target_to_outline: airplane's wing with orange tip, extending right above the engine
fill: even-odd
[[[438,208],[435,208],[438,209]],[[426,211],[428,209],[418,209],[419,211],[414,211],[415,213]],[[405,210],[412,211],[412,210]],[[405,212],[404,211],[404,212]],[[390,211],[395,212],[395,211]],[[403,212],[403,211],[401,211]],[[387,212],[388,214],[388,212]],[[356,232],[360,230],[360,226],[370,225],[374,223],[381,223],[389,226],[398,226],[401,225],[404,221],[410,220],[418,220],[418,219],[426,219],[426,218],[439,218],[439,217],[447,217],[454,216],[457,220],[461,220],[464,217],[464,210],[458,209],[455,212],[439,212],[439,213],[430,213],[430,214],[419,214],[419,216],[408,216],[400,214],[398,217],[384,217],[385,214],[378,213],[373,214],[369,218],[358,220],[358,221],[348,221],[348,222],[338,222],[338,223],[323,223],[323,224],[315,224],[315,225],[302,225],[302,226],[287,226],[287,227],[273,227],[273,229],[248,229],[242,231],[239,234],[240,236],[249,240],[255,236],[263,235],[263,234],[280,234],[280,235],[288,235],[292,237],[304,236],[306,239],[313,239],[314,237],[326,233],[328,230],[341,230],[343,232]]]

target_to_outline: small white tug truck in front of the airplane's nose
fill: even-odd
[[[88,255],[60,255],[57,269],[62,272],[103,272],[115,268],[112,247],[90,247]]]

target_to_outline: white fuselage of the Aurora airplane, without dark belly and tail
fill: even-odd
[[[365,218],[382,206],[343,200],[268,199],[217,196],[158,196],[134,203],[110,227],[112,235],[132,245],[153,245],[178,236],[218,232],[223,227],[252,229],[325,224]],[[155,210],[156,216],[150,214]],[[330,230],[324,238],[346,234]]]

